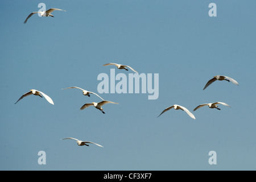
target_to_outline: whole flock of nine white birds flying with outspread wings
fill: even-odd
[[[49,10],[47,10],[47,11],[32,12],[30,15],[27,16],[27,18],[26,18],[26,20],[24,21],[24,23],[27,23],[27,20],[28,20],[33,14],[36,14],[36,13],[40,14],[41,16],[52,16],[52,17],[54,17],[51,13],[52,13],[53,11],[55,11],[55,10],[65,11],[65,10],[61,10],[61,9],[51,8],[51,9],[49,9]],[[129,67],[128,65],[116,64],[116,63],[108,63],[108,64],[104,64],[103,66],[107,66],[107,65],[115,65],[118,69],[125,69],[126,71],[128,71],[127,68],[130,68],[130,69],[131,69],[132,71],[134,71],[135,73],[138,73],[137,71],[135,71],[133,68]],[[220,81],[226,80],[226,81],[228,81],[228,82],[232,82],[232,83],[235,84],[235,85],[239,85],[238,82],[237,82],[236,80],[234,80],[233,78],[230,78],[230,77],[228,77],[228,76],[217,75],[217,76],[214,76],[212,79],[210,79],[210,80],[207,82],[207,84],[204,86],[204,89],[206,89],[210,84],[212,84],[212,83],[213,83],[214,81],[216,81],[216,80],[220,80]],[[100,96],[98,96],[98,94],[96,94],[96,93],[89,92],[88,90],[84,90],[84,89],[79,88],[79,87],[77,87],[77,86],[71,86],[71,87],[65,88],[65,89],[72,89],[72,88],[76,88],[76,89],[82,90],[82,94],[84,94],[84,96],[90,97],[90,94],[94,94],[94,95],[96,95],[97,97],[100,97]],[[203,89],[203,90],[204,90],[204,89]],[[63,90],[64,90],[64,89],[63,89]],[[34,94],[35,96],[40,96],[40,97],[43,96],[44,98],[46,98],[46,100],[47,100],[50,104],[54,105],[54,103],[53,103],[51,97],[49,97],[49,96],[47,96],[47,94],[45,94],[45,93],[43,93],[43,92],[41,92],[41,91],[39,91],[39,90],[35,90],[35,89],[31,89],[30,92],[24,93],[24,94],[19,98],[18,101],[20,101],[22,98],[27,97],[27,96],[30,96],[30,95],[32,95],[32,94]],[[42,97],[42,98],[43,98],[43,97]],[[101,98],[101,97],[100,97],[100,98]],[[102,113],[105,114],[105,112],[104,112],[103,109],[102,109],[102,106],[103,106],[103,105],[105,105],[105,104],[118,104],[118,103],[115,103],[115,102],[112,102],[112,101],[106,101],[106,100],[104,100],[103,98],[101,98],[101,100],[102,100],[101,102],[86,103],[86,104],[84,104],[83,106],[81,106],[80,110],[83,110],[83,109],[85,109],[85,108],[87,108],[87,107],[89,107],[89,106],[94,106],[96,109],[100,110]],[[15,104],[16,104],[18,101],[16,101]],[[208,103],[208,104],[201,104],[201,105],[195,107],[195,109],[193,109],[193,111],[199,109],[200,107],[207,106],[207,105],[208,105],[208,107],[211,108],[211,109],[216,108],[216,109],[220,110],[220,108],[218,108],[218,106],[217,106],[218,104],[222,104],[222,105],[224,105],[224,106],[231,107],[230,105],[228,105],[228,104],[226,104],[226,103],[224,103],[224,102],[213,102],[213,103]],[[167,107],[166,109],[164,109],[160,115],[162,115],[163,113],[165,113],[166,111],[168,111],[168,110],[170,110],[170,109],[172,109],[172,108],[174,108],[175,110],[179,110],[179,109],[180,109],[180,110],[183,110],[183,111],[185,111],[185,112],[189,115],[189,117],[191,117],[191,118],[193,118],[193,119],[196,119],[195,115],[193,115],[193,114],[191,113],[191,111],[189,111],[187,108],[185,108],[185,107],[183,107],[183,106],[176,105],[176,104],[175,104],[175,105],[172,105],[172,106],[170,106],[170,107]],[[160,116],[160,115],[159,115],[159,116]],[[158,116],[158,117],[159,117],[159,116]],[[97,144],[97,143],[94,143],[94,142],[90,142],[90,141],[82,141],[82,140],[79,140],[79,139],[76,139],[76,138],[63,138],[63,139],[61,139],[61,140],[64,140],[64,139],[73,139],[73,140],[77,140],[76,142],[77,142],[77,144],[78,144],[79,146],[84,146],[84,145],[85,145],[85,146],[89,146],[88,143],[93,143],[93,144],[96,144],[97,146],[103,147],[103,146],[101,146],[100,144]]]

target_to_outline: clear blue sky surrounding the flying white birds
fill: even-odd
[[[67,10],[31,16],[39,3]],[[209,17],[209,3],[217,17]],[[255,1],[1,1],[1,170],[255,170]],[[106,63],[159,73],[159,98],[100,94],[119,105],[80,110]],[[133,73],[117,70],[115,73]],[[226,75],[240,85],[216,81]],[[14,103],[30,89],[38,96]],[[226,102],[221,110],[202,107]],[[91,144],[77,146],[73,137]],[[46,152],[46,165],[38,152]],[[209,151],[217,165],[209,165]]]

